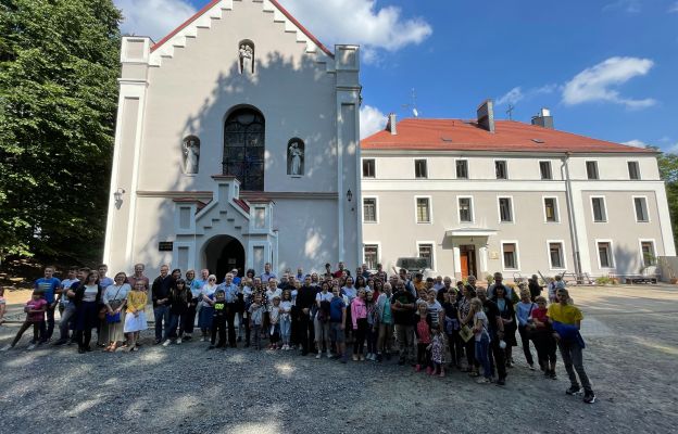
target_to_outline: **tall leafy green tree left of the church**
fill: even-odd
[[[100,256],[121,18],[112,0],[0,2],[0,258]]]

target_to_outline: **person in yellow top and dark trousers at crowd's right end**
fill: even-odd
[[[558,303],[552,303],[549,306],[547,316],[549,323],[553,327],[553,336],[561,350],[567,376],[569,376],[570,386],[565,393],[567,395],[578,394],[581,391],[579,388],[579,382],[581,382],[581,386],[583,386],[583,401],[593,404],[595,403],[595,394],[591,388],[589,376],[583,370],[583,357],[581,355],[583,341],[579,334],[579,329],[581,328],[583,315],[581,315],[579,308],[569,304],[569,293],[566,289],[558,289],[555,295]],[[576,374],[575,370],[577,371]],[[577,375],[579,375],[579,381],[577,381]]]

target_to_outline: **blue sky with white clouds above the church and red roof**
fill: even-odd
[[[248,1],[248,0],[243,0]],[[363,133],[384,114],[529,123],[678,152],[678,0],[279,0],[321,41],[363,48]],[[114,0],[155,40],[209,0]]]

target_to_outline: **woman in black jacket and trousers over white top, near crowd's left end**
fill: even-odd
[[[96,270],[89,271],[75,290],[68,290],[67,295],[75,304],[75,339],[79,354],[91,352],[91,329],[99,324],[102,292]]]

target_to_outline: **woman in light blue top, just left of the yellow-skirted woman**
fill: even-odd
[[[127,275],[118,272],[113,279],[113,284],[103,292],[103,305],[106,308],[105,318],[99,329],[99,344],[105,345],[104,352],[114,352],[117,343],[125,341],[123,333],[125,324],[125,304],[127,295],[131,291],[126,283]]]

